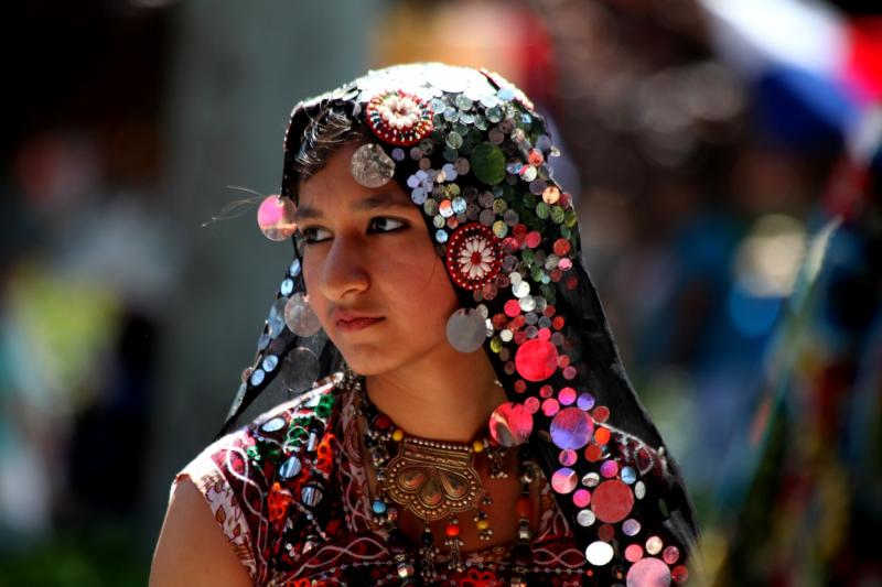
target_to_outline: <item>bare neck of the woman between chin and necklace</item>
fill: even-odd
[[[486,426],[491,412],[506,401],[483,350],[427,354],[420,361],[367,376],[367,395],[408,434],[437,441],[467,442]]]

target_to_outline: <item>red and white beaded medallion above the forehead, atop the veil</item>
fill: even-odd
[[[415,144],[432,132],[431,107],[422,98],[400,89],[374,96],[365,113],[374,134],[390,144]]]

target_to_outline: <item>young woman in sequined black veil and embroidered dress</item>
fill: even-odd
[[[258,211],[294,260],[152,585],[688,579],[689,500],[555,154],[483,70],[390,67],[294,108]]]

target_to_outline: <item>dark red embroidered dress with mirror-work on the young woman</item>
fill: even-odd
[[[356,404],[326,383],[223,436],[179,474],[196,485],[255,585],[400,583],[385,532],[372,523]],[[612,585],[606,570],[615,565],[585,563],[549,483],[539,482],[528,584]],[[447,570],[441,558],[438,584],[507,585],[507,551],[465,553],[463,573]]]

